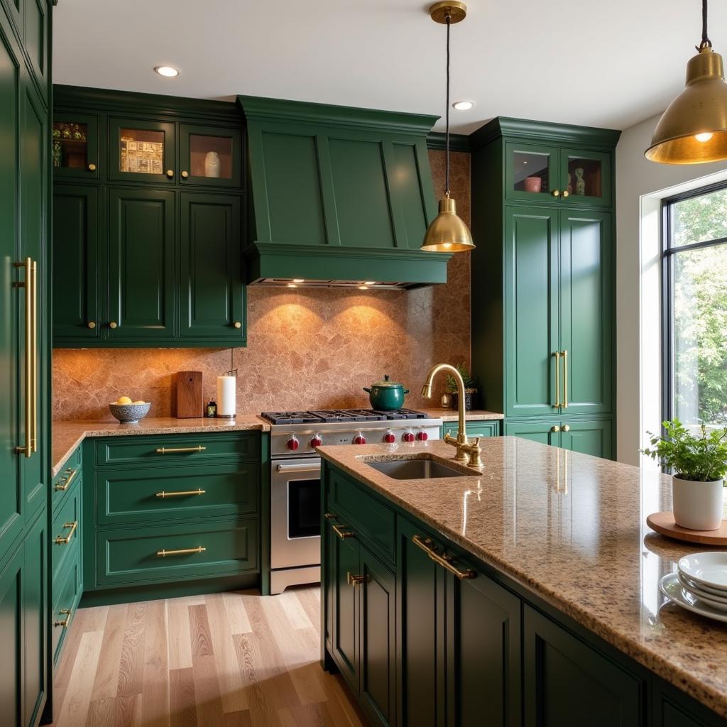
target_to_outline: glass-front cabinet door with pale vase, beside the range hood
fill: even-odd
[[[183,184],[239,187],[242,134],[239,129],[180,125]]]

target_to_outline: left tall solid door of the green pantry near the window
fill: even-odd
[[[505,412],[552,414],[557,404],[558,212],[510,207],[505,223]]]

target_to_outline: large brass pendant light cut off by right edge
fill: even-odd
[[[722,56],[707,36],[702,0],[702,42],[686,65],[686,87],[656,124],[646,158],[662,164],[702,164],[727,159],[727,82]]]

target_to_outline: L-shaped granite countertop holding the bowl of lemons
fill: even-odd
[[[53,422],[51,476],[55,477],[73,451],[87,437],[125,437],[133,434],[192,434],[199,432],[270,431],[270,425],[255,414],[238,414],[235,419],[177,419],[146,417],[138,424],[119,424],[116,419]]]

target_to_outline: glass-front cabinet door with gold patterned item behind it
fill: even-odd
[[[174,184],[174,124],[109,119],[108,132],[111,179]]]

